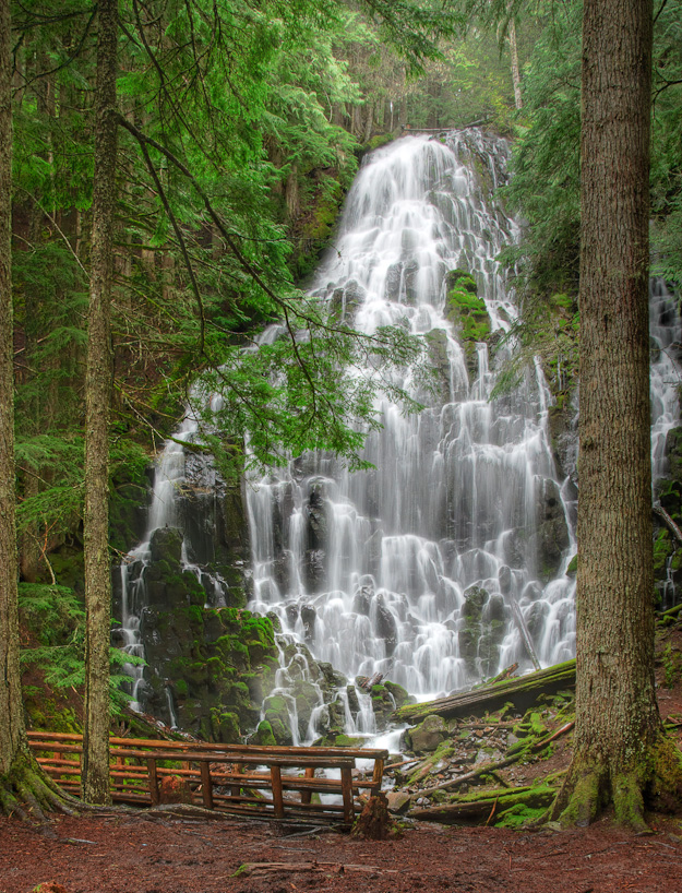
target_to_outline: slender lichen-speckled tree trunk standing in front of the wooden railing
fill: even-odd
[[[83,797],[109,794],[109,413],[110,300],[116,197],[117,0],[99,0],[95,88],[95,180],[85,373],[85,728]]]

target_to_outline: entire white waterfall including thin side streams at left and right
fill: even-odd
[[[574,655],[575,583],[567,571],[576,551],[577,407],[559,412],[539,360],[511,392],[490,398],[513,345],[494,357],[490,348],[517,313],[495,261],[518,236],[493,195],[505,181],[507,154],[503,140],[478,130],[442,140],[409,136],[372,153],[312,284],[313,298],[363,334],[397,323],[423,336],[435,383],[424,390],[409,369],[394,381],[424,406],[418,414],[376,398],[382,428],[361,454],[369,471],[350,473],[333,455],[316,453],[246,481],[249,608],[280,630],[280,666],[261,718],[272,717],[275,700],[280,710],[284,702],[292,743],[330,728],[380,734],[402,698],[396,684],[428,700],[515,663],[525,671]],[[666,471],[666,436],[679,424],[681,331],[673,296],[654,282],[655,479]],[[480,341],[463,340],[463,332]],[[274,326],[263,337],[279,334]],[[561,361],[554,374],[557,393]],[[177,439],[200,437],[190,413]],[[131,654],[143,652],[153,532],[182,526],[176,502],[186,460],[177,442],[166,443],[145,541],[121,569]],[[217,480],[206,467],[204,478]],[[219,607],[227,584],[198,560],[203,552],[195,531],[186,529],[183,565],[204,587],[206,604]],[[131,668],[137,709],[144,672],[153,671]],[[323,684],[330,674],[331,694]],[[358,677],[391,684],[380,696]],[[170,687],[165,718],[177,724]],[[395,749],[395,735],[391,741]]]

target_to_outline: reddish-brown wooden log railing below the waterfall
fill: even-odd
[[[28,741],[45,771],[64,790],[81,793],[83,737],[29,731]],[[110,738],[110,789],[115,802],[155,806],[159,783],[184,779],[193,801],[250,817],[352,823],[360,791],[381,789],[385,750],[250,747],[142,738]],[[373,761],[366,777],[356,759]],[[338,777],[321,777],[332,770]],[[302,774],[301,774],[302,773]],[[332,795],[313,802],[313,794]],[[320,800],[320,797],[316,798]]]

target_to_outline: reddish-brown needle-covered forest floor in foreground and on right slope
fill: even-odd
[[[682,749],[682,620],[659,631],[660,713]],[[571,736],[510,782],[560,772]],[[387,841],[328,829],[111,812],[0,818],[0,893],[682,893],[682,803],[635,836],[606,815],[560,831],[400,820]],[[48,882],[53,882],[49,884]]]

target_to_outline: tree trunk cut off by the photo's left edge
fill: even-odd
[[[0,775],[25,741],[19,667],[12,319],[12,56],[10,2],[0,0]]]

